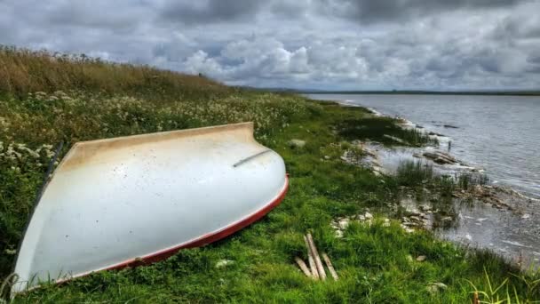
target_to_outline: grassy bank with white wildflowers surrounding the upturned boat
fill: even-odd
[[[377,219],[391,216],[387,203],[399,202],[399,188],[418,179],[412,175],[406,179],[403,174],[401,178],[377,178],[340,159],[352,148],[351,140],[390,145],[384,136],[388,134],[411,145],[427,142],[419,134],[402,133],[391,119],[374,117],[364,108],[295,95],[239,91],[203,77],[171,72],[163,72],[170,77],[163,84],[142,76],[138,84],[123,85],[121,79],[130,78],[131,73],[162,73],[152,68],[139,70],[86,59],[66,59],[60,64],[44,53],[5,49],[0,59],[8,62],[8,71],[22,71],[21,79],[29,82],[14,80],[17,76],[9,72],[10,85],[0,84],[1,276],[11,270],[45,167],[60,141],[65,142],[63,156],[79,140],[254,121],[257,139],[282,155],[290,173],[290,192],[282,204],[234,236],[181,251],[148,267],[45,286],[18,296],[15,302],[464,303],[473,299],[475,288],[489,291],[489,284],[503,283],[495,297],[508,295],[512,302],[516,297],[540,299],[532,286],[537,277],[520,274],[518,268],[489,252],[457,248],[421,230],[406,233],[397,221],[390,227],[383,220],[370,226],[353,223],[344,237],[335,236],[332,219],[367,209]],[[55,67],[60,72],[67,67],[75,71],[70,72],[75,78],[45,81],[56,74],[49,74],[46,68],[37,69],[39,75],[28,72],[35,62],[59,64]],[[92,75],[98,80],[85,74],[90,67],[96,68]],[[118,78],[100,84],[99,75],[108,68],[117,68],[116,76],[109,77]],[[115,81],[121,85],[105,84]],[[43,83],[48,86],[38,86]],[[290,145],[293,139],[305,140],[306,145]],[[420,174],[419,178],[424,177]],[[302,236],[308,230],[320,251],[331,257],[339,281],[314,282],[295,265],[295,256],[306,259]],[[420,255],[425,261],[417,261]],[[219,260],[232,262],[217,268]],[[433,290],[429,286],[434,283],[446,288]],[[488,297],[480,293],[480,299]]]

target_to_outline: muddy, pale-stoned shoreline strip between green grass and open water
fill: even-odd
[[[373,116],[377,117],[386,117],[386,118],[392,118],[396,119],[401,127],[409,130],[415,130],[417,129],[417,124],[409,121],[407,118],[403,118],[401,116],[386,116],[383,113],[378,112],[374,108],[364,107],[358,104],[354,104],[349,100],[334,100],[337,104],[344,107],[358,107],[358,108],[366,108]],[[432,136],[432,132],[429,130],[426,130],[425,128],[422,128],[422,132],[425,134],[429,134]],[[436,134],[433,136],[441,143],[441,138],[446,140],[451,140],[449,137],[444,136],[442,134]],[[395,166],[394,168],[385,168],[384,163],[381,161],[381,155],[385,155],[387,157],[388,154],[395,154],[399,151],[407,150],[408,148],[400,148],[400,147],[390,147],[385,148],[383,146],[380,146],[379,144],[373,144],[373,143],[361,143],[361,147],[366,149],[368,151],[368,155],[373,157],[375,160],[377,160],[374,164],[372,164],[373,167],[377,168],[377,172],[393,172],[395,174]],[[440,148],[440,144],[438,147],[434,147],[434,150],[436,151],[438,148]],[[410,161],[418,161],[420,163],[425,162],[425,158],[422,158],[419,156],[422,152],[418,153],[415,151],[427,151],[432,148],[430,147],[423,147],[423,148],[409,148],[408,156]],[[407,155],[407,154],[405,154]],[[403,155],[401,155],[403,156]],[[449,157],[451,157],[448,154]],[[433,159],[432,159],[433,160]],[[470,166],[469,164],[465,164],[459,160],[456,160],[456,163],[461,166],[461,168],[465,168],[465,170],[470,169],[471,172],[479,173],[479,174],[485,174],[483,169],[478,169],[474,166]],[[401,159],[400,163],[404,160]],[[382,163],[382,165],[381,165]],[[432,163],[433,165],[433,163]],[[454,171],[456,167],[449,168],[449,164],[441,164],[439,166],[438,174],[445,174],[448,172],[453,172],[454,174],[459,174],[458,172]],[[380,167],[380,168],[378,168]],[[463,171],[462,173],[463,174]],[[451,241],[457,242],[457,244],[464,244],[464,245],[475,245],[479,246],[479,248],[487,248],[491,249],[494,252],[497,252],[497,254],[501,254],[505,259],[511,260],[512,262],[517,262],[520,264],[520,267],[527,268],[528,264],[537,264],[538,261],[540,261],[540,254],[536,251],[534,251],[534,248],[536,248],[538,245],[540,245],[540,239],[536,241],[536,243],[533,244],[523,244],[523,242],[518,239],[506,239],[503,236],[489,236],[488,243],[482,243],[482,238],[486,238],[487,236],[482,233],[482,231],[475,231],[475,229],[472,229],[474,232],[470,232],[470,226],[467,226],[468,223],[467,220],[471,221],[473,220],[474,226],[482,226],[487,225],[488,222],[484,222],[486,220],[486,217],[488,217],[490,220],[493,221],[510,221],[514,223],[516,226],[521,227],[523,226],[523,221],[527,220],[528,224],[522,228],[525,235],[534,234],[534,228],[531,228],[532,225],[534,225],[534,222],[536,220],[540,220],[540,218],[536,215],[536,209],[534,206],[531,206],[531,204],[538,204],[540,202],[540,199],[537,199],[536,197],[532,196],[526,196],[519,191],[512,188],[512,186],[509,185],[496,185],[493,183],[488,183],[486,185],[477,185],[474,186],[474,188],[467,190],[466,192],[457,191],[452,193],[452,197],[454,202],[452,203],[455,208],[457,208],[457,211],[455,211],[457,214],[452,215],[452,220],[449,220],[448,222],[442,222],[437,223],[437,226],[448,226],[453,221],[457,221],[457,218],[461,219],[458,221],[457,226],[454,226],[454,228],[451,228],[453,230],[447,230],[445,231],[443,228],[433,228],[433,216],[427,216],[423,212],[418,212],[418,210],[423,210],[422,208],[425,208],[423,206],[430,205],[429,202],[426,202],[423,199],[417,199],[412,198],[409,200],[408,203],[405,203],[406,205],[409,205],[407,211],[412,214],[413,219],[417,219],[417,217],[422,218],[423,220],[416,220],[417,223],[415,224],[414,221],[411,222],[409,218],[404,218],[402,221],[402,224],[406,225],[414,225],[414,226],[421,226],[425,227],[428,230],[433,230],[433,233],[437,236],[440,236],[444,239],[449,239]],[[461,201],[463,200],[473,200],[475,201],[474,204],[477,204],[475,206],[476,209],[476,217],[480,221],[474,221],[475,217],[472,217],[470,215],[470,211],[467,208],[470,207],[463,207],[461,205]],[[478,205],[480,204],[480,205]],[[490,208],[490,209],[486,209]],[[494,207],[494,208],[493,208]],[[431,208],[430,208],[431,209]],[[481,212],[480,210],[484,210]],[[511,212],[515,216],[508,216],[505,214],[505,212]],[[464,215],[465,214],[465,215]],[[484,214],[483,216],[481,214]],[[449,218],[449,217],[448,217]],[[460,224],[461,223],[461,224]],[[509,224],[506,224],[506,226],[512,226]],[[512,231],[512,228],[508,228],[508,230]],[[527,232],[529,231],[529,232]],[[512,234],[511,234],[512,236]],[[518,236],[518,234],[515,234],[515,236]],[[495,238],[494,238],[495,237]],[[480,238],[480,241],[478,240]],[[494,242],[495,239],[498,239],[497,242]],[[528,238],[526,238],[528,239]],[[530,241],[528,239],[528,241]],[[494,244],[496,243],[496,244]],[[513,248],[512,248],[513,247]],[[517,249],[516,249],[517,248]],[[524,253],[526,252],[526,253]],[[524,261],[523,259],[527,260]]]

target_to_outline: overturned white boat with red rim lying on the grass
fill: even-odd
[[[76,143],[29,221],[12,294],[209,244],[263,217],[287,188],[282,157],[251,123]]]

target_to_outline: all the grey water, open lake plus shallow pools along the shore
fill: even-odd
[[[494,183],[540,197],[540,97],[328,94],[309,97],[346,101],[387,116],[401,116],[428,131],[446,135],[452,143],[450,152],[457,159],[484,168]],[[377,150],[380,164],[390,170],[421,151],[371,148]],[[444,170],[453,169],[446,166]],[[521,202],[513,212],[478,203],[454,200],[456,220],[451,227],[438,229],[436,233],[460,244],[488,248],[508,260],[520,260],[524,268],[531,263],[537,267],[540,202]]]

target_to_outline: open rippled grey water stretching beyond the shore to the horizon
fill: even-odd
[[[405,117],[429,131],[449,136],[452,155],[484,168],[492,182],[540,197],[540,97],[352,94],[309,97],[346,100],[388,116]]]

